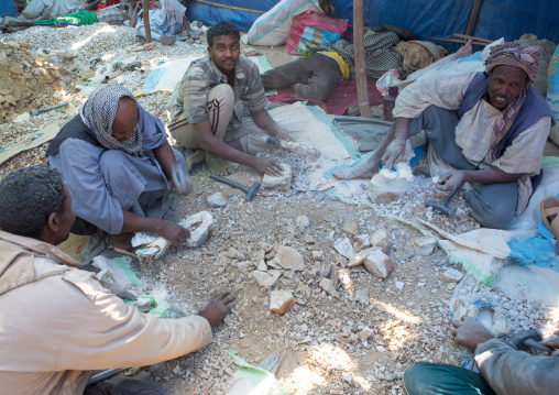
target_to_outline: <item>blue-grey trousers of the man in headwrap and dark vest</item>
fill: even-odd
[[[428,107],[418,118],[409,122],[407,136],[421,130],[429,144],[449,165],[461,171],[474,171],[456,143],[459,119],[454,111],[436,106]],[[479,184],[470,183],[473,190],[464,193],[464,199],[473,209],[471,216],[486,228],[504,229],[513,220],[518,202],[518,183]]]

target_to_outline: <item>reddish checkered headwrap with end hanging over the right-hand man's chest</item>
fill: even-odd
[[[520,95],[518,95],[518,97],[513,100],[498,116],[495,127],[493,128],[491,146],[498,144],[498,142],[513,127],[514,119],[518,114],[524,100],[526,100],[526,95],[531,86],[531,80],[538,73],[540,55],[541,47],[520,46],[516,43],[505,43],[503,45],[495,45],[491,48],[490,56],[485,62],[485,73],[490,73],[496,66],[507,65],[522,68],[529,78],[529,81],[526,84]]]

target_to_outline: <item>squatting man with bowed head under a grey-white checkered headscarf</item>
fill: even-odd
[[[66,123],[46,150],[51,166],[61,171],[72,193],[76,234],[97,228],[112,234],[116,246],[129,248],[132,232],[155,232],[183,244],[186,228],[146,218],[151,205],[172,187],[173,171],[193,184],[184,156],[171,149],[163,122],[150,114],[120,85],[105,85],[91,92],[79,114]]]

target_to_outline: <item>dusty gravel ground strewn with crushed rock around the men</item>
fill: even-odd
[[[152,52],[130,53],[129,46],[141,43],[133,32],[102,24],[45,33],[45,28],[34,28],[9,35],[7,43],[29,41],[30,51],[77,46],[81,66],[75,61],[59,64],[73,73],[75,85],[84,84],[85,65],[95,56],[102,56],[105,65],[119,56],[135,56],[147,69],[162,58],[205,51],[204,45],[177,43],[163,47],[157,43]],[[256,50],[267,56],[272,66],[291,59],[284,47]],[[134,90],[142,87],[145,75],[127,72],[122,83]],[[85,97],[75,90],[57,89],[50,96],[50,102],[45,102],[67,99],[77,107]],[[140,102],[165,119],[167,99],[168,94],[155,94],[141,98]],[[70,118],[67,111],[50,112],[23,123],[3,123],[0,125],[2,141],[36,131],[53,120],[62,125]],[[4,163],[0,176],[26,164],[44,163],[45,147],[28,151]],[[285,156],[280,152],[270,154]],[[399,394],[403,373],[409,364],[460,362],[464,350],[452,342],[449,330],[449,299],[454,284],[440,279],[441,273],[453,263],[442,251],[430,256],[416,255],[413,241],[421,234],[376,213],[430,219],[457,233],[473,229],[475,224],[468,217],[448,220],[425,210],[426,199],[442,197],[428,182],[418,182],[416,190],[391,205],[372,207],[332,200],[328,194],[293,189],[262,190],[246,202],[241,191],[211,180],[207,172],[200,171],[193,178],[195,193],[176,202],[175,215],[184,218],[209,210],[215,224],[208,242],[199,249],[172,248],[160,261],[136,264],[134,268],[149,287],[163,285],[171,293],[171,300],[186,314],[196,311],[212,293],[221,289],[233,290],[238,306],[215,330],[210,345],[152,367],[172,394],[223,393],[235,370],[224,350],[253,364],[273,351],[284,351],[277,376],[291,394]],[[250,185],[261,177],[239,167],[231,178]],[[228,200],[226,207],[209,208],[206,199],[216,191],[221,191]],[[464,208],[462,200],[457,205]],[[309,224],[297,227],[298,216],[307,216]],[[353,235],[342,230],[352,222],[359,227],[358,234],[371,235],[380,229],[387,232],[392,241],[388,255],[395,264],[387,278],[380,279],[362,266],[344,268],[347,260],[336,252],[333,244]],[[281,271],[282,276],[271,288],[259,286],[252,272],[263,255],[270,261],[280,245],[298,251],[304,268]],[[324,277],[343,279],[339,297],[329,296],[319,286]],[[273,289],[288,289],[295,295],[296,303],[284,316],[268,309]],[[497,293],[481,285],[472,288],[474,292]],[[547,334],[557,329],[557,318],[545,307],[529,308],[524,300],[511,304],[511,310],[517,312],[516,320],[511,318],[513,323],[547,328]]]

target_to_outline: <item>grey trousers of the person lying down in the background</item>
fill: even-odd
[[[303,99],[325,101],[343,77],[336,59],[314,54],[267,70],[262,75],[265,90],[292,87]]]

